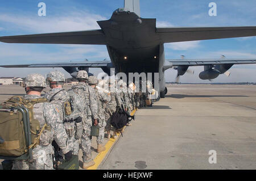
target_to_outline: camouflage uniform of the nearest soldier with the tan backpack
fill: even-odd
[[[38,99],[38,95],[25,95],[25,99]],[[39,139],[39,145],[32,149],[32,162],[28,161],[14,161],[13,169],[43,169],[52,170],[52,154],[53,139],[59,145],[63,153],[68,153],[69,146],[67,144],[68,136],[65,132],[63,122],[60,120],[59,113],[51,103],[37,103],[34,105],[34,119],[37,119],[40,123],[41,128],[44,124],[51,127],[51,131],[48,129],[44,130]],[[39,161],[40,158],[44,157],[44,161]]]

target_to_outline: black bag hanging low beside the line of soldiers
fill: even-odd
[[[126,111],[123,110],[123,106],[122,106],[122,108],[120,107],[117,108],[117,111],[113,113],[113,115],[111,116],[110,124],[115,129],[117,129],[117,131],[120,131],[132,119],[134,120],[134,116],[130,116]]]

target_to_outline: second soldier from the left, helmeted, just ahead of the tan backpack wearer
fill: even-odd
[[[65,130],[68,134],[69,148],[73,151],[74,155],[79,154],[79,140],[75,139],[75,117],[74,119],[67,119],[71,114],[71,107],[67,107],[67,103],[70,105],[70,96],[67,91],[63,89],[65,82],[65,75],[59,70],[51,71],[47,74],[47,83],[51,90],[46,92],[44,98],[48,99],[49,102],[53,103],[56,110],[59,112],[60,120],[63,121]]]

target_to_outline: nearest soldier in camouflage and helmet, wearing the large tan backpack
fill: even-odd
[[[41,92],[46,88],[46,79],[40,74],[27,75],[24,86],[26,87],[27,95],[25,99],[38,99],[41,98]],[[57,113],[53,104],[44,102],[36,103],[33,108],[34,119],[38,120],[42,129],[43,125],[47,124],[49,127],[44,129],[39,138],[39,145],[32,149],[32,161],[28,160],[18,161],[13,163],[13,169],[31,169],[31,170],[52,170],[52,141],[53,138],[59,145],[60,149],[65,155],[65,159],[68,161],[72,158],[72,151],[69,150],[67,140],[68,136],[65,132],[62,121],[60,120],[59,113]],[[44,158],[42,159],[42,155]]]

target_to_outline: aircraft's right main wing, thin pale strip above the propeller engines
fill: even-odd
[[[202,65],[218,65],[218,64],[256,64],[254,59],[232,59],[232,58],[205,58],[205,59],[166,59],[172,66],[202,66]]]

